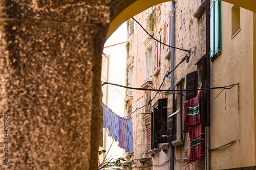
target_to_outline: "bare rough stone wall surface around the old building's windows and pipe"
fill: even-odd
[[[205,13],[201,16],[201,18],[194,18],[193,14],[197,10],[198,4],[197,1],[177,1],[175,8],[175,46],[180,48],[185,48],[189,50],[190,47],[197,46],[197,53],[191,54],[191,58],[189,63],[182,63],[175,70],[175,79],[174,84],[176,84],[181,78],[185,78],[186,74],[192,72],[194,70],[201,69],[201,66],[198,68],[197,65],[194,66],[196,61],[205,53]],[[155,25],[154,25],[154,37],[158,38],[161,35],[161,41],[163,43],[167,43],[167,21],[168,16],[170,15],[171,3],[163,3],[155,6]],[[138,20],[144,28],[146,28],[146,11],[135,16],[136,20]],[[144,19],[144,20],[143,20]],[[142,44],[147,36],[145,33],[139,28],[139,26],[135,23],[135,33],[132,41],[132,48],[129,55],[134,56],[134,87],[140,87],[145,80],[145,70],[144,63],[145,62],[145,46]],[[168,52],[168,47],[161,45],[161,70],[160,74],[156,77],[153,77],[153,87],[154,89],[159,88],[164,75],[167,70],[170,70],[170,60],[166,60],[165,56]],[[186,52],[175,50],[175,65],[177,65],[181,58],[186,55]],[[153,63],[152,70],[153,72],[156,69],[156,58],[157,58],[157,42],[153,41]],[[201,74],[201,73],[200,73]],[[199,74],[199,76],[200,76]],[[200,80],[199,80],[200,81]],[[186,84],[183,83],[182,88],[184,89]],[[170,82],[166,79],[163,83],[161,89],[169,89]],[[156,92],[151,92],[151,99],[154,98]],[[157,107],[157,100],[161,98],[167,98],[167,93],[158,93],[156,98],[153,100],[152,105],[155,104]],[[146,100],[145,100],[146,99]],[[169,102],[172,102],[172,95],[169,96]],[[180,107],[179,94],[175,95],[176,100],[176,110]],[[184,101],[183,96],[183,101]],[[143,147],[143,140],[145,140],[145,121],[144,118],[141,118],[141,112],[148,111],[147,106],[143,107],[136,111],[136,108],[140,108],[148,102],[148,94],[144,91],[134,91],[134,98],[131,102],[133,104],[132,114],[133,122],[134,122],[134,145],[135,145],[135,159],[143,156],[142,153],[145,152],[145,144]],[[172,104],[169,105],[172,107]],[[173,113],[172,108],[168,108],[168,113]],[[183,113],[184,114],[184,109]],[[176,119],[177,124],[177,139],[180,138],[180,113],[177,114]],[[183,125],[182,125],[183,126]],[[189,136],[188,133],[184,134],[185,143],[179,147],[175,147],[175,158],[188,158],[189,157]],[[138,144],[138,145],[136,145]],[[152,157],[152,168],[153,169],[169,169],[169,163],[165,163],[161,166],[165,161],[169,160],[169,150],[167,153],[160,150],[157,156]],[[139,164],[137,166],[142,166]],[[188,160],[175,160],[175,169],[204,169],[204,158],[194,162],[188,163]]]

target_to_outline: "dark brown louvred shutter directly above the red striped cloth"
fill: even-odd
[[[186,89],[195,89],[197,87],[197,71],[190,72],[186,76]],[[197,91],[186,91],[186,101],[195,98]]]

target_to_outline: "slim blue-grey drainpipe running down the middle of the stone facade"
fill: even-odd
[[[174,9],[175,9],[175,2],[172,1],[172,10],[171,10],[171,15],[172,15],[172,23],[171,23],[171,30],[172,30],[172,37],[170,40],[170,45],[175,46],[175,16],[174,16]],[[170,70],[174,69],[174,48],[170,48]],[[170,89],[174,90],[174,71],[170,74]],[[174,106],[173,106],[174,107]],[[170,165],[169,165],[170,170],[174,170],[174,146],[172,143],[170,143]]]

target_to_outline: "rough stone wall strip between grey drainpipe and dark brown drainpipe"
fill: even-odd
[[[181,1],[176,3],[175,11],[175,46],[188,49],[190,47],[197,47],[196,54],[191,54],[190,61],[188,63],[182,63],[175,70],[175,83],[185,78],[189,72],[200,70],[197,65],[194,65],[198,59],[205,54],[205,12],[197,19],[193,16],[197,10],[197,1]],[[175,65],[181,61],[181,58],[185,56],[185,52],[175,50]],[[200,74],[197,72],[199,77]],[[200,80],[199,80],[200,81]],[[183,88],[186,88],[186,83],[183,83]],[[200,82],[201,83],[201,82]],[[179,88],[177,88],[179,89]],[[184,93],[185,94],[185,93]],[[179,95],[176,95],[177,110],[180,108]],[[183,101],[185,101],[185,95],[183,95]],[[184,105],[183,105],[184,108]],[[183,109],[183,115],[184,115]],[[180,138],[180,113],[177,114],[177,139]],[[188,158],[189,157],[189,135],[184,133],[184,145],[175,147],[176,158]],[[204,169],[205,159],[204,157],[193,163],[188,163],[188,160],[175,161],[175,169]]]

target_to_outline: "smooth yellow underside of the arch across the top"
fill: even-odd
[[[111,17],[111,23],[107,39],[114,33],[114,31],[121,26],[123,22],[140,12],[150,8],[154,5],[169,2],[168,0],[121,0],[117,5],[117,12]],[[256,13],[256,1],[254,0],[225,0],[224,2],[234,4]]]

